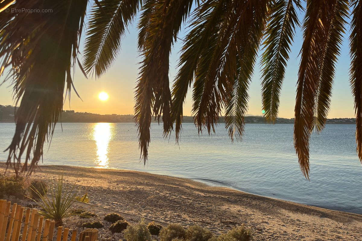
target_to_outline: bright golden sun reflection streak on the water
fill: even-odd
[[[114,135],[114,125],[111,123],[95,123],[93,139],[96,141],[96,164],[98,168],[109,167],[109,142]]]

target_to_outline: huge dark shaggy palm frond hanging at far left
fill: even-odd
[[[75,64],[87,0],[18,0],[17,9],[51,9],[37,14],[22,12],[1,23],[1,67],[12,65],[14,98],[20,106],[16,130],[7,150],[8,165],[18,173],[31,172],[51,138],[63,107],[63,92],[71,90],[71,66]],[[10,11],[11,12],[11,11]],[[73,60],[73,61],[72,61]],[[30,161],[30,163],[28,163]]]

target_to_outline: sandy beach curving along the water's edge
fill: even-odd
[[[362,240],[358,214],[146,172],[43,165],[33,174],[56,175],[75,181],[92,205],[160,223],[198,224],[215,233],[244,224],[254,240]]]

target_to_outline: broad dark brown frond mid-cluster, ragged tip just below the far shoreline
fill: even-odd
[[[193,86],[193,108],[195,125],[198,132],[203,128],[210,134],[214,132],[215,124],[219,120],[223,107],[223,84],[227,81],[224,66],[230,51],[235,51],[235,38],[238,32],[240,16],[244,10],[242,1],[228,1],[224,3],[224,13],[220,18],[218,29],[215,29],[213,38],[206,44],[195,72]],[[232,73],[235,74],[235,73]],[[221,78],[220,78],[221,77]],[[224,77],[224,78],[222,78]]]

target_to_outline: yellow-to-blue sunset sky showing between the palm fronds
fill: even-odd
[[[299,19],[302,22],[304,13],[299,14]],[[90,112],[99,114],[118,114],[127,115],[133,114],[134,107],[134,88],[138,77],[139,62],[142,60],[139,57],[137,49],[137,35],[136,29],[138,19],[135,19],[133,25],[129,27],[129,33],[126,34],[121,43],[121,50],[114,64],[109,68],[108,72],[101,78],[95,79],[94,77],[85,78],[79,68],[75,70],[75,76],[73,77],[74,85],[79,93],[78,98],[74,91],[72,91],[70,101],[66,100],[63,106],[64,110],[75,110],[76,112]],[[341,55],[338,58],[336,64],[336,75],[334,78],[334,85],[332,91],[331,108],[328,118],[353,118],[354,117],[354,104],[353,97],[349,86],[349,26],[346,26],[346,34],[344,35],[343,45],[341,46]],[[179,37],[183,38],[188,29],[183,28],[180,31]],[[81,42],[84,43],[84,36],[81,38]],[[172,53],[170,56],[170,70],[169,79],[170,86],[174,77],[177,74],[177,61],[180,56],[180,48],[182,41],[178,41],[174,44]],[[302,46],[302,30],[297,27],[296,34],[294,36],[294,43],[291,47],[289,54],[289,61],[285,72],[285,79],[281,91],[279,117],[293,118],[294,117],[294,105],[295,105],[295,91],[296,82],[298,79],[298,67],[299,67],[299,51]],[[81,52],[83,46],[81,46]],[[80,56],[81,58],[81,56]],[[261,65],[258,58],[254,67],[254,73],[252,82],[249,87],[249,115],[262,115],[261,111]],[[3,77],[0,77],[2,82]],[[12,98],[12,88],[9,86],[9,82],[5,82],[0,86],[0,104],[1,105],[14,105]],[[109,95],[107,101],[102,102],[98,99],[98,94],[101,91],[105,91]],[[186,97],[186,103],[184,105],[184,115],[191,115],[191,90]]]

